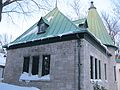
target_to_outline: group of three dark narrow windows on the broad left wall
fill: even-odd
[[[42,63],[39,63],[39,56],[24,57],[23,72],[38,75],[39,71],[42,70],[42,76],[48,75],[50,73],[50,55],[43,55],[42,57]],[[40,65],[42,65],[42,69],[39,70]]]

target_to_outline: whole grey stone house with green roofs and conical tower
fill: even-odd
[[[93,2],[69,20],[57,7],[10,43],[4,82],[40,90],[117,90],[115,50]]]

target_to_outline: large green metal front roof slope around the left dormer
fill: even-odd
[[[84,32],[84,30],[78,28],[72,21],[63,15],[57,7],[50,11],[46,16],[42,17],[42,19],[46,24],[49,25],[45,33],[37,34],[37,22],[21,36],[19,36],[15,41],[11,42],[9,46],[57,36],[61,37],[62,35],[76,32]]]

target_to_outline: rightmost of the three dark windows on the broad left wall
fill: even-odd
[[[50,73],[50,55],[43,55],[42,76]]]

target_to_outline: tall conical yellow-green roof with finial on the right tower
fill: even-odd
[[[96,7],[91,2],[91,7],[87,16],[88,30],[96,36],[103,44],[114,46],[113,40],[108,34],[102,19],[100,18]]]

